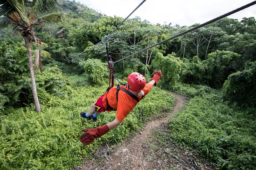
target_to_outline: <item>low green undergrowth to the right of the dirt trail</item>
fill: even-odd
[[[217,169],[255,169],[254,112],[222,103],[220,92],[204,93],[174,115],[167,138],[195,149]]]

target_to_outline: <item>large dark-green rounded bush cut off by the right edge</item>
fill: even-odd
[[[244,71],[230,74],[223,85],[223,98],[245,107],[256,107],[256,61]]]

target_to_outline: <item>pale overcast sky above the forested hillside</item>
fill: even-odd
[[[76,0],[107,16],[126,18],[143,0]],[[253,0],[146,0],[129,18],[139,16],[152,24],[191,26],[204,23]],[[256,18],[256,5],[228,16]]]

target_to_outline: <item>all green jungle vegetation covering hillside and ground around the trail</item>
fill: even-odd
[[[153,115],[171,111],[175,99],[168,91],[190,101],[170,120],[168,133],[158,132],[162,144],[191,148],[216,169],[256,169],[255,18],[223,18],[114,64],[121,82],[132,72],[145,75],[148,82],[161,69],[163,77],[124,122],[84,146],[81,129],[104,125],[116,116],[106,112],[95,123],[80,117],[109,83],[107,66],[86,63],[107,63],[104,43],[93,45],[123,18],[73,1],[58,2],[65,19],[34,26],[44,45],[31,42],[32,56],[40,48],[42,59],[42,72],[35,72],[41,112],[34,104],[25,42],[19,32],[12,35],[12,24],[1,27],[0,169],[72,169],[104,144],[139,132]],[[108,38],[109,55],[117,61],[196,25],[127,19]]]

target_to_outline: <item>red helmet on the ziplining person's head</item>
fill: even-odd
[[[146,85],[145,77],[138,72],[133,72],[127,77],[127,82],[130,89],[135,92],[139,92]]]

